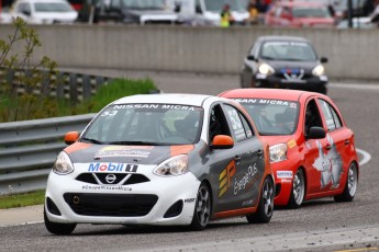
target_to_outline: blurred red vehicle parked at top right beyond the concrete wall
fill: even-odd
[[[277,1],[265,15],[265,24],[288,27],[333,27],[334,16],[320,2]]]

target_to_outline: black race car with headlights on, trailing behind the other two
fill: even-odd
[[[300,89],[326,93],[327,77],[312,44],[296,36],[260,36],[244,59],[242,88]]]

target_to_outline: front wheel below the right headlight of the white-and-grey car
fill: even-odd
[[[205,183],[201,183],[197,194],[193,218],[190,229],[204,230],[211,217],[211,192]]]

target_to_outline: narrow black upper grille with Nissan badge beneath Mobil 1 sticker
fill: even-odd
[[[108,175],[114,175],[115,180],[112,181],[112,183],[109,183],[107,181]],[[113,184],[116,185],[120,182],[122,182],[125,176],[127,176],[127,180],[122,183],[122,185],[131,185],[131,184],[138,184],[148,182],[149,180],[143,175],[143,174],[136,174],[136,173],[81,173],[79,174],[76,180],[81,181],[89,184]],[[98,181],[100,183],[98,183]]]

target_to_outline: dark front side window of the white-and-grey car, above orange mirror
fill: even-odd
[[[227,135],[231,136],[231,130],[227,127],[227,123],[222,112],[221,105],[214,105],[211,108],[211,118],[209,125],[209,140],[213,140],[216,135]]]

